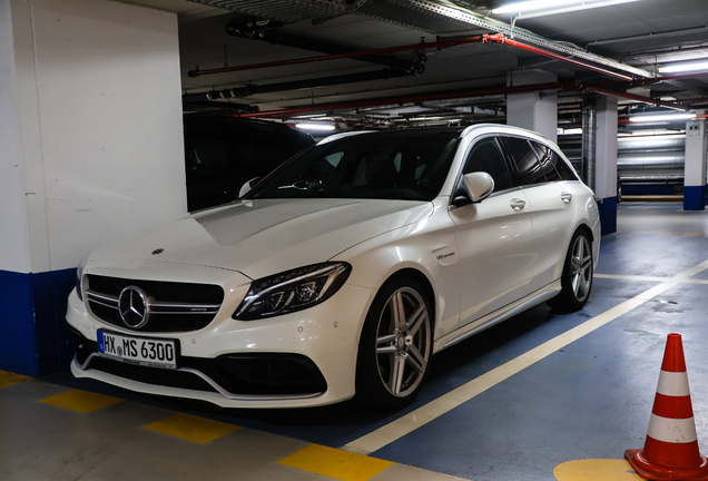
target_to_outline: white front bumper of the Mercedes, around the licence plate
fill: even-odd
[[[341,402],[355,392],[358,336],[374,295],[372,288],[345,284],[326,302],[292,314],[259,321],[235,321],[226,312],[219,313],[199,331],[144,333],[96,320],[73,291],[69,296],[67,322],[79,344],[85,345],[83,352],[79,352],[71,363],[71,372],[77,377],[96,379],[131,391],[203,400],[224,408],[303,408]],[[111,360],[96,352],[98,330],[175,340],[180,346],[181,362],[176,370],[170,370]],[[325,386],[324,391],[314,389],[311,390],[313,392],[287,393],[277,392],[276,387],[265,393],[253,390],[233,392],[238,391],[233,387],[236,384],[222,382],[214,375],[214,370],[200,367],[233,356],[285,356],[309,363],[324,379],[321,384]],[[119,369],[106,369],[111,363]],[[155,381],[157,379],[160,381]]]

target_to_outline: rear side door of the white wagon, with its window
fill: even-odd
[[[560,278],[572,236],[573,190],[554,167],[553,150],[535,140],[504,136],[512,157],[512,180],[533,205],[534,262],[532,292]]]

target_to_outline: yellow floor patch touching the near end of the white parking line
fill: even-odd
[[[278,461],[291,468],[322,474],[341,481],[367,481],[393,465],[390,461],[368,458],[319,444],[311,444]]]

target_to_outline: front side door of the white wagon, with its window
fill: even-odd
[[[486,171],[494,192],[484,200],[451,208],[459,261],[461,325],[490,314],[529,293],[533,262],[531,205],[514,188],[495,136],[476,140],[460,177]]]

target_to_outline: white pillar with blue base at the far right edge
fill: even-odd
[[[704,210],[706,208],[705,118],[686,122],[686,164],[684,169],[684,210]]]

